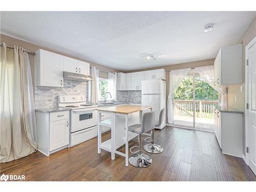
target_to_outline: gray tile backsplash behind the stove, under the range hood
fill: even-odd
[[[88,100],[88,81],[64,79],[63,88],[35,87],[35,108],[48,108],[58,105],[58,95],[86,95]]]

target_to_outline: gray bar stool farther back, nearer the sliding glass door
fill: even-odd
[[[155,127],[156,126],[160,126],[162,123],[163,123],[163,118],[164,118],[164,111],[165,111],[165,108],[163,108],[161,111],[160,111],[160,114],[159,114],[159,120],[158,122],[155,124]],[[148,141],[148,139],[151,139],[150,141]],[[151,143],[148,143],[148,144],[145,144],[143,146],[144,150],[148,153],[153,153],[153,154],[158,154],[158,153],[162,153],[163,152],[163,147],[161,145],[158,145],[158,144],[155,144],[155,129],[152,130],[152,134],[151,134],[151,137],[147,137],[144,139],[146,142],[151,142]]]

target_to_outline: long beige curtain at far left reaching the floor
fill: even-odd
[[[0,162],[37,149],[32,78],[28,53],[3,43],[0,62]]]

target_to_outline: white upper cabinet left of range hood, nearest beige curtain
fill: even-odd
[[[63,87],[63,56],[39,49],[35,52],[35,86]]]

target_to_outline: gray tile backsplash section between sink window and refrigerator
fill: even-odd
[[[117,91],[118,102],[129,102],[134,104],[141,103],[141,91]]]

